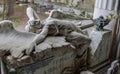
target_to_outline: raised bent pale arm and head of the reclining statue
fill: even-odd
[[[38,29],[40,29],[41,27],[41,21],[39,16],[37,15],[37,13],[34,11],[32,7],[33,7],[32,5],[29,5],[26,10],[26,14],[29,20],[26,23],[25,31],[36,33],[36,30],[38,31]]]

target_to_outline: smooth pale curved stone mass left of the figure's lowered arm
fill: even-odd
[[[33,33],[16,31],[10,21],[0,22],[0,57],[5,54],[11,54],[14,58],[23,56],[35,36]]]

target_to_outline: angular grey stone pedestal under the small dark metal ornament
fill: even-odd
[[[89,29],[90,44],[89,69],[96,72],[109,64],[110,47],[112,41],[112,31],[96,31]]]

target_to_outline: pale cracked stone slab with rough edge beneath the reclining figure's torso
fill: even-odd
[[[34,59],[41,60],[50,56],[63,55],[68,52],[67,49],[73,48],[69,42],[66,42],[65,37],[47,37],[44,42],[36,46]]]

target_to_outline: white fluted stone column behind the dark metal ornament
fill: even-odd
[[[118,0],[96,0],[93,18],[106,16],[109,13],[116,14]]]

